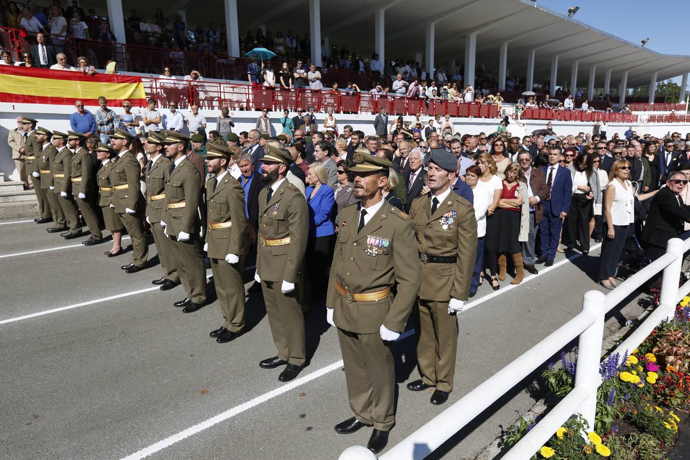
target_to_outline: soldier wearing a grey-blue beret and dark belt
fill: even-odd
[[[453,391],[457,320],[469,299],[477,252],[474,208],[452,190],[457,159],[435,149],[429,159],[430,192],[412,201],[410,217],[417,228],[417,248],[422,267],[419,301],[413,310],[417,334],[417,367],[421,379],[408,390],[435,388],[432,404],[442,404]]]

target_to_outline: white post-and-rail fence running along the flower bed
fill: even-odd
[[[544,361],[578,337],[578,360],[573,390],[511,450],[506,452],[504,459],[529,459],[573,414],[582,414],[589,426],[593,427],[597,389],[602,381],[599,366],[604,336],[604,315],[663,270],[659,306],[614,351],[618,352],[620,356],[625,353],[630,354],[661,321],[673,317],[676,304],[690,292],[690,282],[684,283],[678,288],[683,253],[687,250],[690,250],[690,239],[685,242],[678,238],[671,239],[666,254],[633,274],[609,294],[604,295],[598,290],[586,292],[582,301],[582,312],[555,330],[549,337],[524,352],[515,361],[493,374],[451,407],[397,443],[381,457],[376,457],[362,446],[353,446],[344,450],[339,460],[424,459],[511,390],[513,386],[531,374]]]

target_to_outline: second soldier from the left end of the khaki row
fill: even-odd
[[[52,215],[53,226],[46,228],[48,233],[64,232],[67,230],[67,221],[65,213],[62,211],[60,201],[55,194],[55,184],[52,177],[52,162],[57,156],[57,148],[51,143],[52,132],[46,128],[37,128],[34,132],[34,137],[38,143],[36,151],[39,152],[34,161],[35,170],[31,173],[32,177],[41,178],[41,190],[46,196],[48,202],[48,209]],[[27,142],[28,143],[28,142]]]

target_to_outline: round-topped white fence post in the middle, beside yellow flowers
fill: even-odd
[[[606,311],[604,293],[598,290],[586,292],[582,301],[582,310],[589,310],[595,314],[596,319],[589,328],[580,334],[575,388],[582,388],[587,392],[587,399],[580,406],[580,414],[589,423],[589,430],[593,431],[597,408],[597,389],[601,383],[599,363],[604,338],[604,312]]]

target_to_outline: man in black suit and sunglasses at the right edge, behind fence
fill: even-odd
[[[679,196],[687,182],[684,172],[669,172],[666,187],[651,201],[647,223],[642,229],[642,244],[644,253],[652,261],[664,255],[669,239],[678,238],[683,224],[690,222],[690,206]]]

